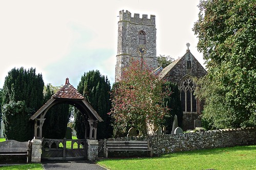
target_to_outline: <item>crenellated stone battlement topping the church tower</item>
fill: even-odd
[[[147,14],[142,14],[142,18],[140,18],[140,14],[134,13],[132,17],[129,11],[122,10],[119,11],[119,21],[130,21],[137,24],[155,26],[155,15],[150,15],[150,18],[148,18]]]

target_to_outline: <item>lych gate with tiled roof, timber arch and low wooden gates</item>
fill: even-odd
[[[91,105],[85,100],[84,96],[79,93],[70,83],[69,79],[66,79],[65,85],[52,95],[52,98],[46,102],[37,112],[30,117],[34,120],[34,138],[42,139],[43,125],[45,121],[45,115],[47,111],[57,104],[69,104],[79,109],[84,117],[85,121],[85,139],[83,140],[71,140],[71,150],[66,150],[66,139],[54,140],[45,139],[43,141],[43,158],[61,158],[66,159],[66,153],[69,157],[86,157],[87,145],[86,140],[95,140],[97,135],[97,123],[102,122],[102,118],[91,107]],[[73,149],[73,144],[77,144],[77,149]],[[54,145],[52,145],[54,144]],[[61,147],[60,147],[61,145]],[[83,149],[84,148],[84,151]],[[61,155],[61,156],[60,156]]]

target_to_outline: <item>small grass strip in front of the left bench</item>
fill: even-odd
[[[0,166],[0,170],[43,170],[41,163],[29,163],[23,165],[4,165]]]

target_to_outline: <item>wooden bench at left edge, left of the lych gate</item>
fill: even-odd
[[[6,140],[0,142],[0,155],[25,155],[28,163],[31,160],[31,141]]]

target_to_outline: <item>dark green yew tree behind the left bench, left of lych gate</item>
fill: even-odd
[[[34,123],[29,118],[43,104],[44,81],[35,69],[13,68],[3,87],[4,136],[7,139],[28,141],[34,136]]]

